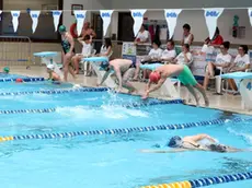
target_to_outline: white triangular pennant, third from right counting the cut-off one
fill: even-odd
[[[168,22],[168,28],[169,28],[169,39],[172,38],[174,31],[175,31],[175,26],[176,26],[176,20],[177,16],[181,13],[181,9],[165,9],[164,10],[164,17]]]

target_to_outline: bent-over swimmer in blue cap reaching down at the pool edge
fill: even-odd
[[[129,80],[134,77],[136,66],[131,60],[128,59],[114,59],[112,61],[103,61],[101,68],[106,71],[102,81],[98,86],[102,85],[107,79],[111,71],[115,71],[116,79],[118,80],[118,91],[121,92],[123,87],[127,89],[129,93],[137,92],[137,90],[131,85]]]

